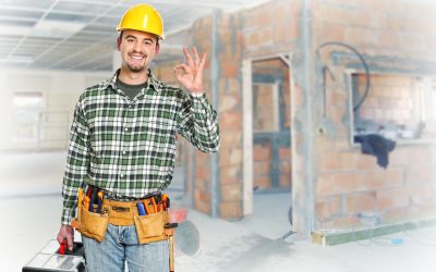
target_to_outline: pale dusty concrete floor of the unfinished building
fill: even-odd
[[[1,271],[21,271],[56,236],[64,156],[0,156]],[[177,249],[177,271],[436,271],[436,226],[324,248],[281,239],[290,227],[289,203],[288,194],[255,195],[255,213],[238,222],[190,210],[199,250],[189,256]]]

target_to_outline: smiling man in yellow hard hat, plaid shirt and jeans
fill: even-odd
[[[169,271],[168,240],[138,243],[132,218],[137,210],[130,203],[171,183],[175,134],[204,152],[218,151],[217,113],[204,94],[206,53],[199,57],[195,48],[183,49],[186,63],[174,66],[182,90],[159,82],[148,67],[165,39],[161,16],[153,7],[129,9],[117,30],[121,69],[111,78],[87,88],[75,107],[62,188],[62,225],[57,238],[59,243],[66,239],[72,249],[71,222],[76,215],[77,191],[93,188],[102,191],[107,201],[104,207],[110,205],[112,209],[105,209],[108,217],[102,212],[87,214],[96,220],[85,222],[88,232],[98,233],[104,227],[100,242],[98,234],[81,232],[87,270],[124,271],[126,263],[129,271]],[[82,211],[87,213],[86,209]],[[125,219],[112,220],[116,213],[123,213]],[[100,224],[107,218],[109,223]]]

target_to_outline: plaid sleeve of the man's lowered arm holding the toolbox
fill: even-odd
[[[70,132],[70,148],[63,176],[62,224],[71,224],[77,207],[77,189],[83,187],[83,180],[87,175],[89,165],[88,138],[89,131],[80,100],[74,111]]]

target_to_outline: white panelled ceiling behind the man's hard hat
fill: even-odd
[[[154,5],[162,15],[166,48],[215,9],[234,12],[267,0],[0,0],[0,67],[110,71],[126,9]]]

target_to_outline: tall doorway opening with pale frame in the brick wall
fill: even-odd
[[[243,78],[243,212],[254,231],[277,238],[292,221],[290,57],[244,60]]]

